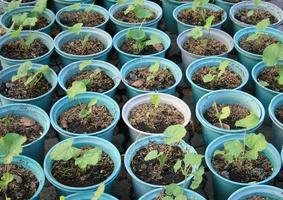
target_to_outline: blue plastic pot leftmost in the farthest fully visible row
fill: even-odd
[[[21,14],[21,13],[31,13],[31,11],[33,10],[34,6],[23,6],[23,7],[19,7],[19,8],[15,8],[10,12],[5,12],[1,19],[0,19],[0,23],[2,26],[6,27],[7,29],[10,27],[10,25],[12,24],[12,17],[13,15],[16,14]],[[51,27],[53,26],[54,22],[55,22],[55,14],[49,10],[49,9],[45,9],[44,12],[42,13],[42,16],[45,17],[49,24],[46,27],[43,27],[41,29],[37,29],[36,31],[41,31],[44,32],[48,35],[50,35],[51,33]]]

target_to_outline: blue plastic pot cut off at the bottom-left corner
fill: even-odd
[[[0,156],[0,163],[3,164],[4,156]],[[26,156],[15,156],[13,157],[12,164],[17,165],[19,167],[25,168],[36,177],[38,181],[38,188],[34,195],[31,197],[32,200],[39,200],[39,195],[43,190],[45,184],[45,176],[42,170],[42,167],[33,159]]]

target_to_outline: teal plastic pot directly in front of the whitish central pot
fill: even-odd
[[[137,140],[136,142],[134,142],[126,151],[125,153],[125,157],[124,157],[124,165],[125,168],[128,172],[128,174],[131,176],[132,179],[132,184],[134,187],[134,191],[136,194],[136,197],[139,198],[142,195],[144,195],[147,192],[150,192],[154,189],[160,189],[163,188],[164,185],[154,185],[154,184],[150,184],[150,183],[146,183],[143,180],[139,179],[132,171],[131,169],[131,162],[134,158],[134,156],[136,155],[136,153],[144,148],[145,146],[147,146],[150,142],[155,142],[157,144],[164,144],[164,139],[166,138],[166,136],[164,135],[158,135],[158,136],[149,136],[149,137],[145,137],[142,139]],[[188,145],[186,142],[184,142],[183,140],[179,143],[176,144],[178,145],[180,148],[182,148],[184,151],[187,152],[193,152],[196,153],[196,150]],[[186,187],[188,187],[191,179],[193,178],[193,176],[188,177],[187,180],[183,180],[180,183],[177,183],[178,185],[182,186],[185,182]]]

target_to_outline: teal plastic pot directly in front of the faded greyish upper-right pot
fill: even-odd
[[[230,68],[235,73],[237,73],[242,79],[241,85],[239,85],[237,88],[235,88],[235,90],[241,90],[246,85],[246,83],[248,82],[249,72],[247,71],[247,69],[241,63],[239,63],[239,62],[237,62],[233,59],[224,58],[224,57],[207,57],[207,58],[198,59],[198,60],[192,62],[186,70],[186,78],[189,81],[189,83],[191,84],[192,94],[193,94],[193,102],[195,104],[197,103],[197,101],[203,95],[205,95],[205,94],[207,94],[207,93],[209,93],[213,90],[203,88],[203,87],[197,85],[196,83],[194,83],[193,80],[192,80],[193,75],[199,69],[201,69],[203,67],[218,66],[224,60],[228,60],[230,62],[230,64],[229,64]]]

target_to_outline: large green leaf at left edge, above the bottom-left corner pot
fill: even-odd
[[[17,133],[7,133],[0,138],[0,154],[4,155],[4,164],[10,164],[14,156],[22,153],[22,145],[27,138]]]

